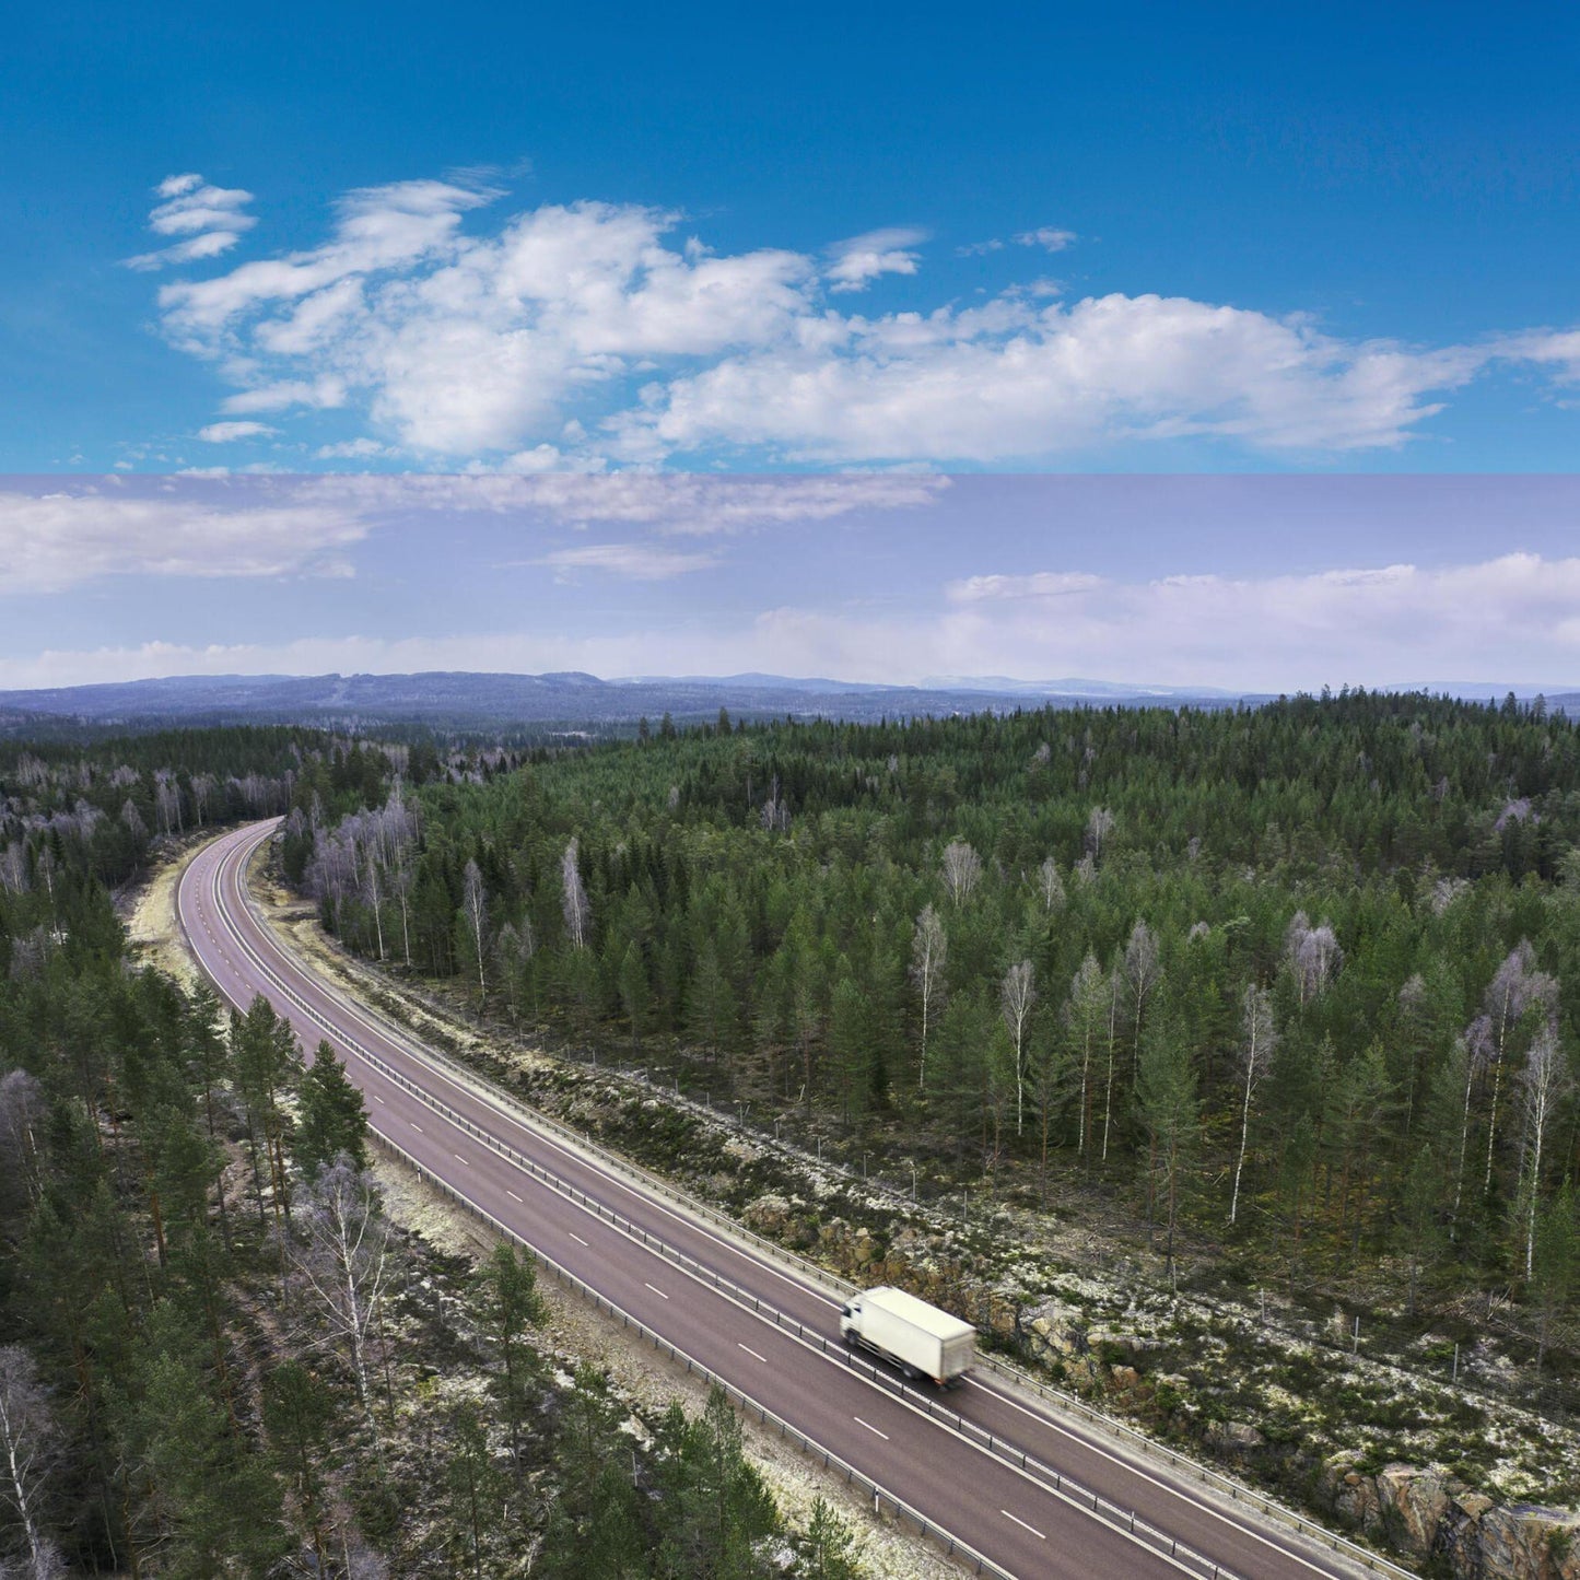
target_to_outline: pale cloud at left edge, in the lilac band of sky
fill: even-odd
[[[368,526],[332,504],[204,493],[0,491],[0,591],[60,592],[101,577],[344,574],[333,553]]]

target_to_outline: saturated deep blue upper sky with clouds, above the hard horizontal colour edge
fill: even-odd
[[[1572,8],[499,11],[14,8],[0,468],[1569,465]]]

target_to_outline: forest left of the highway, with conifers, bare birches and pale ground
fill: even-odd
[[[161,845],[411,766],[295,730],[0,755],[0,1575],[852,1577],[722,1394],[634,1417],[545,1348],[529,1258],[392,1224],[325,1044],[128,953],[109,885]]]

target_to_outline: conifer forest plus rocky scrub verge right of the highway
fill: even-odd
[[[1327,1509],[1346,1449],[1556,1501],[1577,744],[1540,705],[1370,694],[720,719],[302,814],[281,855],[348,946],[506,1033],[964,1209],[918,1292],[969,1262],[969,1315],[1152,1430]],[[683,1119],[613,1106],[580,1103],[706,1172]],[[787,1243],[905,1280],[894,1196],[711,1172]],[[1334,1384],[1346,1351],[1400,1381]]]

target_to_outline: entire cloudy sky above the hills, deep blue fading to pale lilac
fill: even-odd
[[[634,9],[14,8],[0,683],[1580,678],[1572,9]]]

